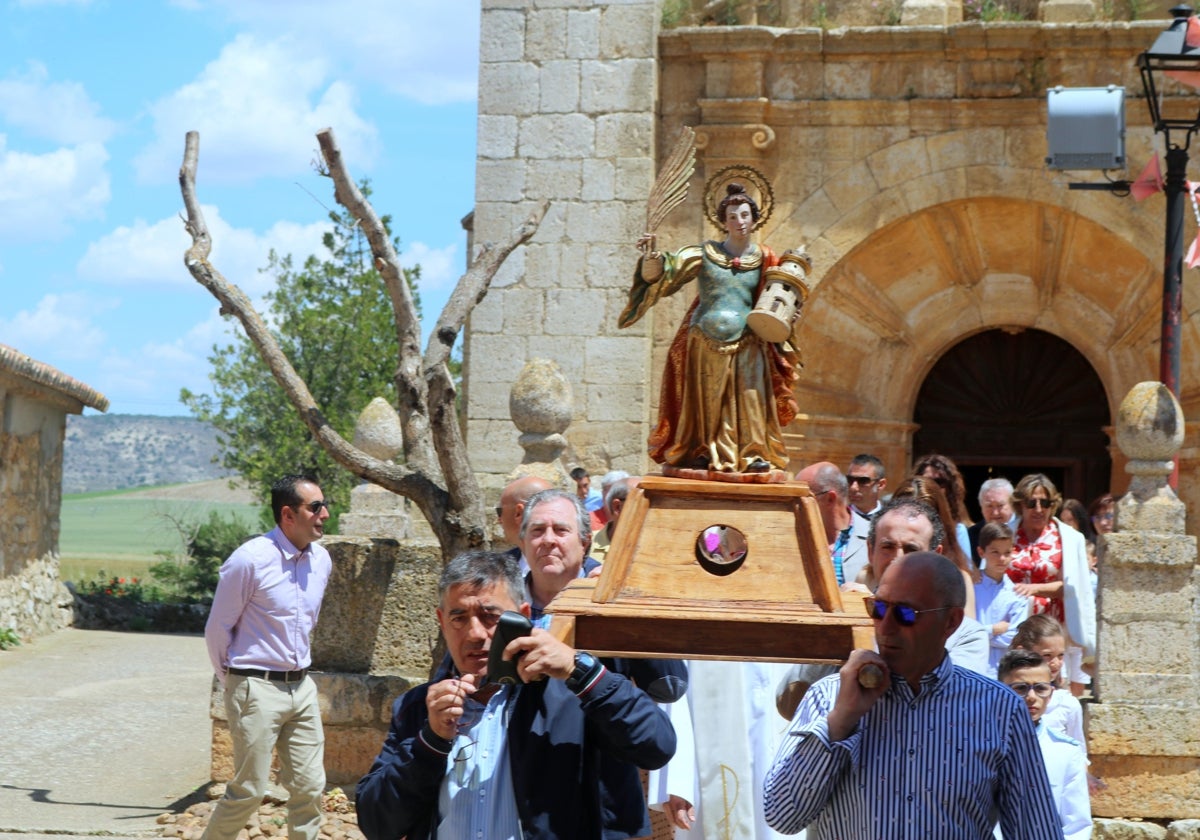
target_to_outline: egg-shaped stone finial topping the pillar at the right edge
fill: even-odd
[[[1186,509],[1168,484],[1183,445],[1183,409],[1171,390],[1160,382],[1134,385],[1117,410],[1116,439],[1133,476],[1117,503],[1117,529],[1182,534]]]

